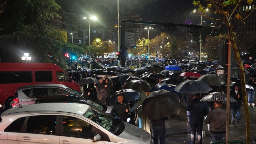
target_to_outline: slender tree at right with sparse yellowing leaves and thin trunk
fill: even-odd
[[[203,2],[203,3],[201,3]],[[238,23],[244,23],[245,19],[255,9],[240,9],[241,6],[251,5],[253,0],[193,0],[193,4],[198,6],[197,13],[200,13],[203,17],[222,22],[227,27],[229,33],[229,40],[235,51],[235,57],[239,64],[240,76],[241,76],[241,90],[243,95],[243,103],[247,103],[246,90],[245,90],[245,71],[240,57],[240,49],[236,45],[235,35],[233,33],[233,27]],[[208,12],[206,12],[208,9]],[[217,18],[216,18],[217,17]],[[246,116],[246,143],[250,143],[250,112],[248,105],[244,104],[245,116]]]

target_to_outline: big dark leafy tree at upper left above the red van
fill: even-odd
[[[2,62],[21,62],[22,54],[29,52],[32,62],[63,66],[65,52],[86,52],[67,43],[67,32],[58,27],[61,8],[54,0],[0,0],[0,6]]]

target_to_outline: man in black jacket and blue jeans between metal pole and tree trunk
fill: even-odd
[[[230,102],[231,108],[231,116],[232,116],[232,124],[237,123],[242,124],[241,117],[240,117],[240,107],[242,103],[242,92],[239,90],[239,85],[234,85],[235,89],[230,91],[230,97],[233,97],[237,102]],[[235,118],[236,115],[236,118]]]

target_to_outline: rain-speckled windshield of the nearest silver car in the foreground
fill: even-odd
[[[104,113],[103,111],[99,111],[93,107],[88,108],[88,110],[83,114],[83,116],[93,120],[98,125],[108,130],[112,134],[114,134],[119,127],[119,121],[116,118]]]

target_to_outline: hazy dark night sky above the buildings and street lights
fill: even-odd
[[[96,15],[105,22],[117,18],[117,0],[55,0],[63,10],[79,14]],[[192,0],[119,0],[119,17],[137,13],[143,21],[184,24],[192,19],[197,9]],[[198,21],[198,20],[196,20]]]

